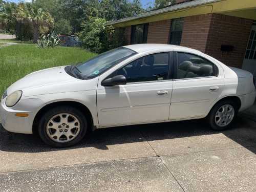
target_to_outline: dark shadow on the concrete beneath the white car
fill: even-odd
[[[186,144],[191,144],[192,146],[185,147],[189,148],[193,147],[193,143],[190,143],[189,138],[197,136],[212,136],[202,137],[201,139],[211,138],[212,141],[209,142],[214,143],[219,142],[218,139],[215,140],[215,136],[217,136],[216,134],[223,134],[227,138],[233,140],[234,143],[238,143],[255,153],[255,151],[251,150],[251,146],[256,146],[256,122],[242,117],[238,117],[238,120],[232,129],[224,132],[211,131],[209,125],[203,120],[177,121],[100,129],[88,135],[80,144],[64,149],[47,146],[37,135],[9,133],[1,127],[0,150],[18,153],[51,152],[83,147],[95,147],[100,150],[108,150],[108,145],[142,141],[147,141],[149,143],[157,141],[165,142],[179,138],[188,139]],[[179,141],[181,140],[177,141],[177,145],[179,145]],[[218,143],[214,144],[216,145]],[[159,145],[161,145],[161,143]],[[200,140],[199,145],[204,145],[204,141]],[[169,143],[168,147],[168,150],[170,150],[172,148],[172,143]]]

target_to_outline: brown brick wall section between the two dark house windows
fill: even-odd
[[[170,24],[170,20],[161,20],[148,24],[147,43],[168,44]]]

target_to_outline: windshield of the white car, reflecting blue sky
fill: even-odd
[[[135,51],[123,47],[113,49],[77,65],[76,69],[83,79],[93,78],[134,54],[136,54]]]

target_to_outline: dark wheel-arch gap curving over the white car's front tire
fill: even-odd
[[[42,114],[47,112],[49,109],[54,108],[55,106],[60,106],[60,105],[73,106],[73,107],[79,109],[84,114],[84,116],[87,118],[88,124],[89,124],[88,127],[89,127],[90,131],[93,130],[93,117],[92,117],[90,110],[87,108],[87,106],[83,105],[82,103],[76,102],[76,101],[58,101],[58,102],[50,103],[50,104],[44,106],[42,109],[40,109],[40,111],[37,112],[37,114],[34,118],[34,121],[33,121],[33,134],[37,132],[36,125],[38,124]]]

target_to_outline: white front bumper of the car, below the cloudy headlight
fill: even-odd
[[[21,99],[14,107],[8,108],[5,100],[0,105],[0,122],[5,130],[14,133],[32,134],[36,113],[44,105],[40,99]],[[22,110],[20,110],[22,109]],[[17,117],[16,113],[27,113],[28,117]]]

